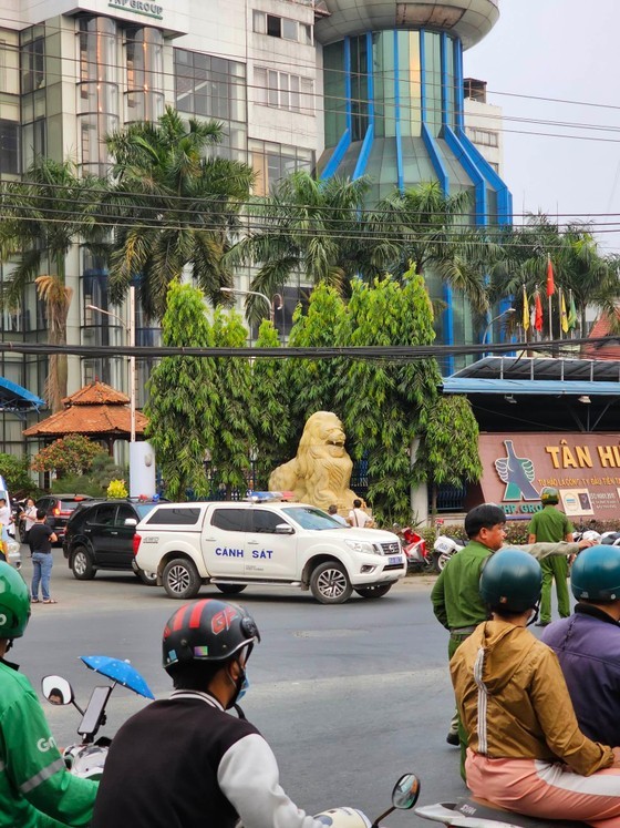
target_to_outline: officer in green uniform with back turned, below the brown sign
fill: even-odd
[[[572,525],[568,518],[559,509],[560,495],[557,489],[546,487],[540,492],[542,511],[536,512],[529,523],[528,543],[557,543],[558,541],[572,542]],[[551,623],[551,585],[556,580],[556,594],[558,596],[558,612],[560,619],[570,615],[570,603],[568,600],[568,560],[564,556],[548,558],[540,563],[542,570],[542,595],[540,597],[540,620],[536,626],[547,626]]]

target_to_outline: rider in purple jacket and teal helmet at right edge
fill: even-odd
[[[592,546],[570,573],[578,603],[541,635],[558,656],[581,730],[620,745],[620,548]]]

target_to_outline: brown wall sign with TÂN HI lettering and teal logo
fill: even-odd
[[[540,509],[555,485],[569,518],[620,519],[620,433],[482,433],[484,499],[508,517]]]

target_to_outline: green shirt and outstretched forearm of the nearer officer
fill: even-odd
[[[549,555],[572,555],[579,552],[577,543],[530,543],[510,545],[520,549],[537,560]],[[469,543],[453,555],[440,574],[431,592],[433,612],[447,630],[473,627],[486,621],[488,613],[478,591],[480,572],[485,560],[493,554],[488,546],[477,541]]]

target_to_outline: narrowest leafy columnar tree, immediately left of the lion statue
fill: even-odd
[[[256,349],[277,348],[278,331],[264,319],[258,330]],[[292,360],[291,360],[292,361]],[[291,417],[290,392],[283,359],[257,358],[251,367],[251,423],[257,489],[267,489],[269,474],[289,460]]]

